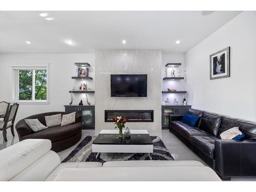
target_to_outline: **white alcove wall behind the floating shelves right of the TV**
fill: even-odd
[[[184,53],[162,53],[162,65],[161,65],[161,72],[162,72],[162,79],[165,77],[165,65],[168,62],[181,62],[180,67],[175,67],[174,70],[176,71],[176,75],[178,75],[178,71],[181,72],[181,77],[184,77],[184,80],[162,80],[162,91],[168,91],[167,89],[172,88],[177,91],[186,91],[186,63],[185,63],[185,54]],[[167,68],[167,76],[170,76],[170,73],[172,71],[172,67]],[[179,101],[179,104],[182,104],[183,101],[183,94],[162,94],[162,102],[169,98],[171,104],[174,104],[173,101],[176,98],[176,100]]]

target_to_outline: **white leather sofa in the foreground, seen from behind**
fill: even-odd
[[[60,163],[47,139],[26,139],[0,151],[0,181],[221,181],[198,161]]]

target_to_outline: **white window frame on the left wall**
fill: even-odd
[[[32,70],[33,77],[32,77],[32,100],[19,100],[19,70]],[[35,86],[35,73],[34,70],[46,70],[47,73],[47,95],[46,100],[34,100],[35,93],[34,93],[34,86]],[[49,63],[47,64],[38,64],[38,65],[15,65],[11,66],[11,98],[12,102],[17,102],[20,104],[23,103],[30,103],[30,104],[49,104]]]

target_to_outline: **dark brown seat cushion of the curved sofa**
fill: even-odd
[[[30,135],[22,137],[24,139],[50,139],[52,142],[70,138],[81,132],[81,123],[73,123],[65,126],[52,126],[46,130],[42,130]]]

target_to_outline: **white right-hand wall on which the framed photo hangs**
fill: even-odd
[[[209,55],[230,46],[230,77],[209,79]],[[256,12],[242,12],[186,53],[193,108],[256,121]]]

